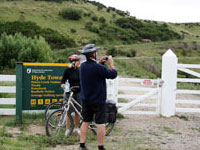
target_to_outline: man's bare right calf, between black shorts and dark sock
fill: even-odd
[[[100,146],[104,145],[105,126],[104,124],[97,125],[97,140]]]

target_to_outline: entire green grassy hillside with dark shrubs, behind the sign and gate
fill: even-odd
[[[85,44],[96,43],[101,54],[115,56],[123,76],[159,77],[161,56],[167,49],[172,49],[180,62],[200,61],[200,23],[138,20],[127,12],[83,0],[47,1],[0,0],[0,34],[43,36],[51,46],[54,62],[66,62],[67,56]],[[80,11],[81,18],[64,19],[60,13],[69,9]]]

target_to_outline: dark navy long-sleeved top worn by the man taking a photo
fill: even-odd
[[[104,104],[106,101],[106,80],[117,77],[115,69],[88,60],[81,64],[81,100],[83,104]]]

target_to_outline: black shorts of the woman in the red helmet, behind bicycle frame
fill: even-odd
[[[69,98],[69,95],[70,93],[65,93],[65,101],[68,101],[68,98]],[[72,96],[80,105],[81,105],[81,99],[80,99],[80,92],[74,92],[73,96]],[[77,104],[74,104],[74,106],[76,107],[76,109],[80,112],[81,111],[81,108],[77,105]],[[72,106],[70,106],[69,108],[69,112],[72,113],[72,112],[75,112],[74,108]]]

